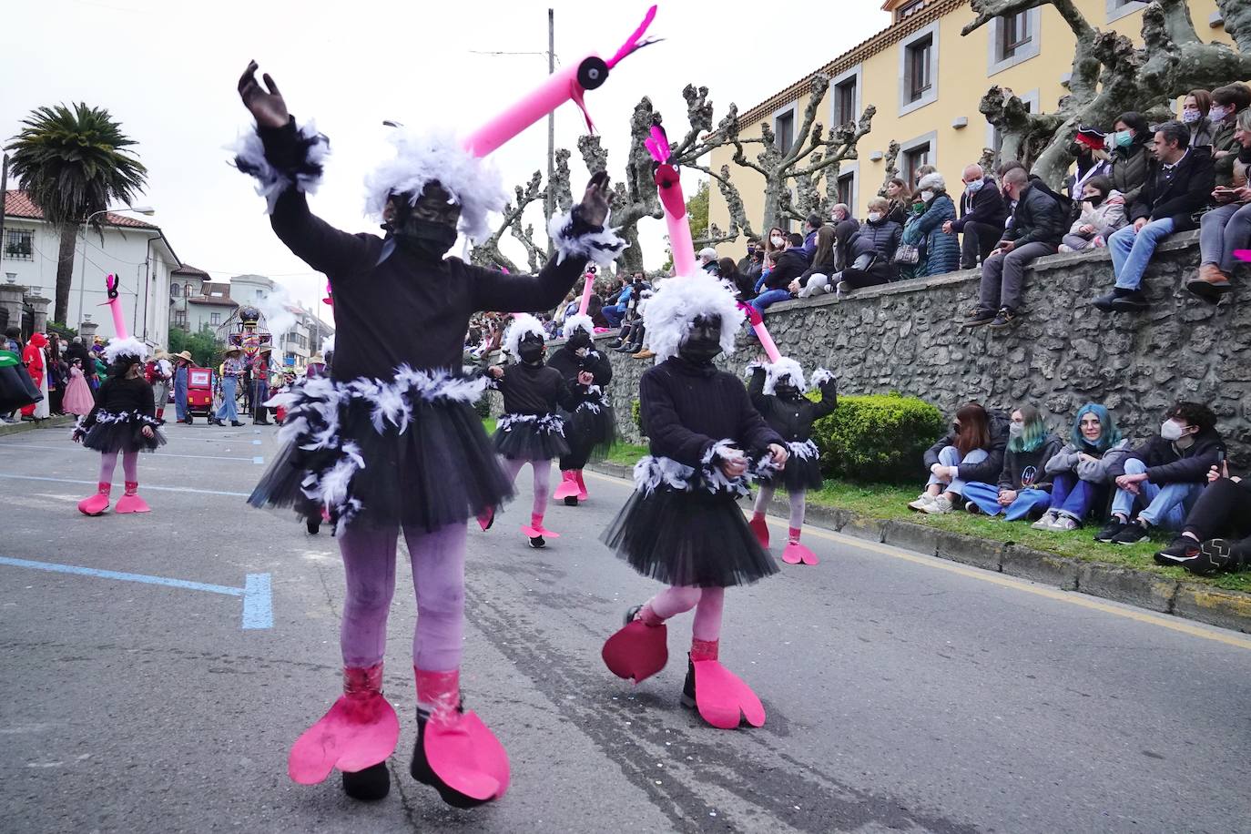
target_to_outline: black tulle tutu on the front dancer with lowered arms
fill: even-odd
[[[729,588],[778,571],[726,491],[636,490],[599,540],[667,585]]]

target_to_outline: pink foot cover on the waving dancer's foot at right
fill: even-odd
[[[508,790],[508,753],[474,713],[428,721],[422,744],[430,769],[453,790],[483,801]]]

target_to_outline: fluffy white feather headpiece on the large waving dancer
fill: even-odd
[[[395,156],[365,178],[365,213],[382,220],[392,194],[412,194],[413,203],[438,180],[460,206],[457,224],[473,241],[490,236],[487,218],[508,203],[499,170],[467,151],[450,131],[417,133],[397,128],[389,136]]]

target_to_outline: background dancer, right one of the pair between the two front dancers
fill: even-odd
[[[569,334],[568,340],[548,360],[548,368],[560,371],[565,385],[575,394],[577,405],[562,415],[569,454],[560,456],[560,485],[555,488],[554,498],[567,506],[577,506],[578,501],[587,500],[582,469],[592,454],[607,453],[613,445],[617,420],[608,398],[613,366],[607,355],[595,350],[590,319],[570,316],[565,333]],[[582,385],[583,374],[590,374],[589,385]]]

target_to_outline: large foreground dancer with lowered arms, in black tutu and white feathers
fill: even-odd
[[[719,661],[726,589],[777,573],[736,500],[764,466],[783,469],[782,436],[752,408],[747,389],[713,359],[734,349],[742,325],[731,291],[712,276],[674,278],[646,320],[657,365],[639,383],[649,453],[634,491],[600,540],[634,570],[668,588],[626,613],[603,648],[613,674],[641,683],[664,668],[669,618],[696,610],[682,704],[713,726],[746,715],[764,723],[759,699]]]

